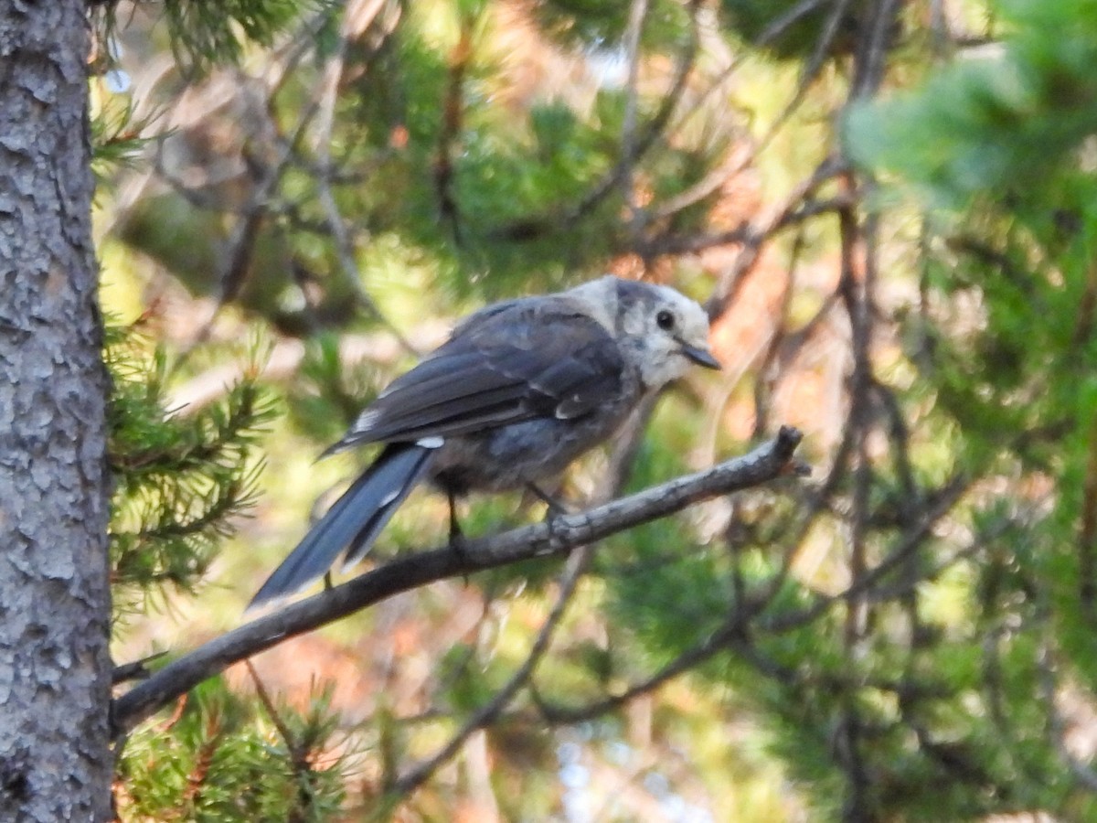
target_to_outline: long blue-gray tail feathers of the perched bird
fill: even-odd
[[[347,550],[346,563],[361,560],[377,534],[430,469],[434,449],[393,443],[336,500],[282,565],[267,578],[248,610],[303,588],[324,575]]]

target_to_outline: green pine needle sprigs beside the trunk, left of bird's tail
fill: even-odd
[[[114,381],[111,580],[125,610],[169,587],[195,590],[255,501],[256,447],[274,407],[252,367],[222,401],[192,414],[168,408],[165,352],[149,354],[132,328],[109,327],[105,360]]]

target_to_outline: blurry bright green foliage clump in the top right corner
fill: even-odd
[[[851,111],[855,158],[954,207],[981,192],[1033,201],[1054,185],[1064,155],[1097,131],[1097,5],[998,5],[1009,32],[1000,54],[960,60],[924,89]]]

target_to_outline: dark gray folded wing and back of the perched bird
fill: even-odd
[[[622,391],[623,369],[610,334],[566,303],[493,306],[395,380],[333,450],[581,417]]]

